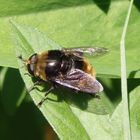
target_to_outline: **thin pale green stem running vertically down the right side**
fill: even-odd
[[[127,76],[126,76],[126,56],[125,56],[125,37],[128,27],[128,22],[130,18],[130,13],[133,5],[131,0],[127,17],[125,20],[123,33],[120,42],[120,59],[121,59],[121,90],[122,90],[122,102],[123,102],[123,131],[124,131],[124,140],[131,140],[131,126],[130,126],[130,114],[129,114],[129,105],[128,105],[128,92],[127,92]]]

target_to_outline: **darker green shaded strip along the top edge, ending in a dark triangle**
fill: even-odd
[[[1,11],[1,17],[11,16],[11,15],[22,15],[29,13],[37,13],[43,11],[57,10],[62,8],[76,7],[93,4],[93,1],[97,6],[103,10],[105,13],[108,12],[111,0],[106,0],[103,2],[102,0],[55,0],[55,1],[13,1],[13,5],[10,3],[3,3],[5,7],[3,7],[3,11]],[[9,4],[9,5],[7,5]],[[18,8],[22,5],[22,8]],[[8,10],[7,10],[7,7]]]

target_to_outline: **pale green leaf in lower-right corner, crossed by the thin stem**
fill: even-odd
[[[137,86],[129,93],[129,110],[130,110],[130,122],[131,122],[131,134],[133,140],[140,139],[140,86]],[[111,117],[111,132],[113,137],[118,139],[124,139],[123,132],[123,113],[122,113],[123,102],[121,102]],[[127,131],[127,130],[126,130]]]

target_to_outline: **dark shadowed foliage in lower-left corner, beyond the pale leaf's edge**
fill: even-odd
[[[0,67],[0,139],[57,139],[13,68]]]

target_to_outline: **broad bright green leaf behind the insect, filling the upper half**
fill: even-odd
[[[38,1],[27,4],[11,0],[0,1],[2,6],[0,24],[0,65],[17,68],[10,39],[9,15],[19,23],[38,28],[61,46],[97,46],[109,48],[110,52],[102,57],[91,59],[98,76],[120,77],[119,42],[127,13],[129,1]],[[94,3],[95,2],[95,3]],[[18,8],[21,3],[24,5]],[[5,8],[3,8],[5,7]],[[104,9],[105,7],[105,9]],[[43,12],[39,12],[39,11]],[[116,12],[117,11],[117,12]],[[27,14],[31,13],[31,14]],[[21,15],[22,14],[22,15]],[[132,9],[127,32],[127,76],[140,77],[140,39],[139,11]],[[135,57],[133,57],[135,55]]]

